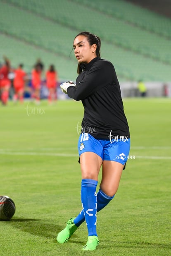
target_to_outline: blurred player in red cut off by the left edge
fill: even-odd
[[[3,105],[7,105],[9,97],[9,89],[11,86],[11,81],[8,78],[10,72],[10,62],[7,57],[4,57],[5,64],[0,68],[0,93],[1,101]]]

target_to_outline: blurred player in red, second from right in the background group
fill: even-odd
[[[41,86],[41,73],[40,65],[36,64],[31,72],[31,83],[33,86],[32,98],[35,98],[36,103],[40,103],[40,86]]]

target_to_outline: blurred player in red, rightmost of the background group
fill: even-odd
[[[57,100],[57,72],[54,65],[50,65],[46,72],[46,85],[49,91],[48,102],[51,104],[52,101]]]

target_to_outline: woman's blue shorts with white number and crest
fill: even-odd
[[[93,152],[102,158],[119,162],[125,165],[129,158],[130,139],[126,136],[117,136],[114,141],[95,139],[92,135],[83,132],[78,140],[78,152],[81,156],[84,152]]]

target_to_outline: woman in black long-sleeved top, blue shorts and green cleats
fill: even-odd
[[[66,222],[57,241],[67,242],[85,220],[88,241],[83,251],[93,251],[99,244],[96,213],[114,198],[130,149],[119,82],[112,63],[100,58],[100,44],[100,38],[89,32],[81,32],[75,37],[73,48],[79,74],[76,85],[73,82],[60,85],[64,93],[74,100],[81,100],[84,107],[78,140],[83,210]],[[102,180],[96,194],[101,165]]]

